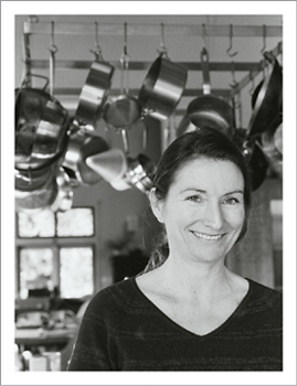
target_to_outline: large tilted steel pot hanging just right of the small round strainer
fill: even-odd
[[[180,101],[187,78],[187,68],[171,62],[162,52],[149,68],[138,95],[147,114],[166,120]]]

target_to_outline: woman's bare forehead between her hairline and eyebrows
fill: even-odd
[[[244,179],[240,168],[231,162],[209,158],[194,159],[176,173],[173,185],[194,185],[199,189],[243,189]]]

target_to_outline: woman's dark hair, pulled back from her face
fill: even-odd
[[[224,133],[211,128],[199,128],[178,137],[165,151],[153,178],[158,200],[165,200],[174,181],[177,172],[191,160],[198,158],[231,161],[242,172],[244,179],[245,219],[236,243],[243,238],[247,229],[247,218],[252,205],[252,182],[248,164],[235,142]],[[152,253],[146,271],[160,266],[168,257],[169,248],[163,235],[161,245]]]

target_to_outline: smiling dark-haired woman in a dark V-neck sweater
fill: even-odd
[[[282,296],[231,272],[251,181],[223,133],[198,129],[166,150],[149,195],[168,256],[99,291],[70,371],[282,371]]]

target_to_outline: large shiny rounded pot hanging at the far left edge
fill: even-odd
[[[47,93],[36,88],[17,90],[15,168],[35,170],[52,164],[67,141],[68,114]]]

